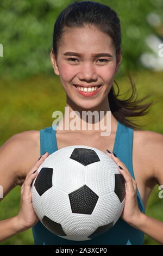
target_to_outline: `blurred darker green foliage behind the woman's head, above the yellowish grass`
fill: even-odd
[[[74,1],[68,0],[1,0],[0,43],[4,47],[1,58],[1,77],[23,78],[36,74],[52,74],[49,53],[52,48],[54,22],[59,13]],[[80,2],[80,1],[79,1]],[[140,56],[151,49],[145,39],[158,33],[147,22],[147,15],[154,12],[162,17],[162,0],[103,0],[121,20],[123,62],[119,75],[127,67],[139,70]]]

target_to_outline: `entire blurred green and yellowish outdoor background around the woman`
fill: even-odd
[[[54,22],[70,3],[68,0],[1,0],[0,3],[0,145],[15,133],[52,126],[52,113],[64,112],[65,92],[53,72],[49,53]],[[130,70],[138,97],[150,94],[150,113],[138,118],[142,130],[163,133],[163,0],[105,0],[121,20],[123,60],[116,82],[120,94],[130,88]],[[163,45],[162,45],[163,47]],[[1,47],[2,50],[2,47]],[[116,86],[114,85],[115,89]],[[130,96],[120,96],[126,99]],[[5,172],[5,170],[4,170]],[[1,178],[0,178],[1,184]],[[20,209],[17,186],[0,203],[0,220],[17,215]],[[163,199],[155,186],[146,214],[163,221]],[[122,234],[123,235],[123,234]],[[32,229],[17,234],[2,245],[33,245]],[[145,245],[158,243],[145,235]]]

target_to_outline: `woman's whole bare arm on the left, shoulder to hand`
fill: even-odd
[[[33,174],[34,170],[39,168],[44,159],[41,158],[42,160],[35,161],[35,164],[31,166],[36,158],[35,155],[38,154],[38,147],[35,147],[35,141],[32,136],[33,133],[30,131],[18,133],[8,139],[0,148],[0,185],[3,187],[3,197],[16,185],[21,185],[24,181],[23,179],[26,178],[21,189],[20,212],[14,217],[0,221],[1,242],[12,235],[27,230],[36,221],[35,213],[30,209],[30,207],[32,208],[32,204],[29,203],[30,184],[37,175],[37,172]],[[39,156],[40,154],[37,155],[37,160]],[[30,168],[29,165],[31,166]],[[30,211],[30,217],[33,223],[28,223],[26,216],[24,217],[24,212],[28,210]]]

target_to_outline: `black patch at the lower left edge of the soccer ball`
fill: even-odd
[[[66,236],[64,230],[62,229],[61,224],[50,220],[47,216],[44,216],[42,219],[42,223],[43,225],[45,225],[45,227],[47,229],[49,229],[53,234],[55,235],[60,235],[60,236]]]

